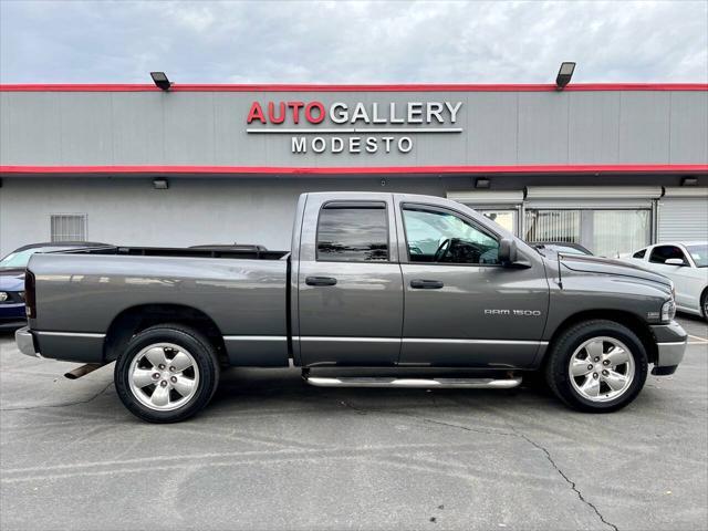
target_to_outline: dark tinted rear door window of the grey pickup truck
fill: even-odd
[[[388,260],[386,205],[330,204],[317,221],[317,260],[372,262]]]

